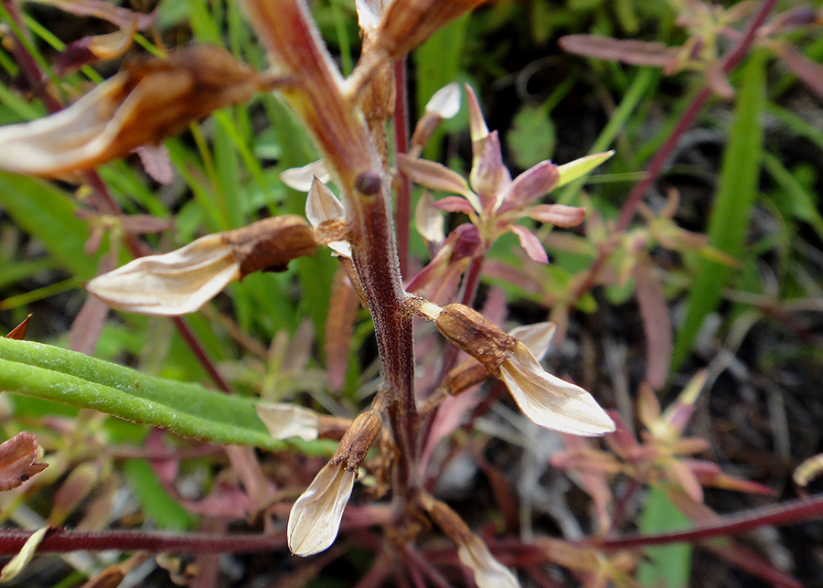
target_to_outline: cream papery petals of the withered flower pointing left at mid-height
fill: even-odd
[[[207,235],[163,255],[149,255],[103,273],[86,289],[112,308],[144,315],[192,313],[240,278],[222,235]]]

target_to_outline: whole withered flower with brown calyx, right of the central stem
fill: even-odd
[[[546,372],[527,345],[476,310],[465,305],[440,308],[422,303],[418,312],[433,320],[455,346],[503,380],[520,410],[541,427],[579,435],[615,430],[615,423],[591,394]]]

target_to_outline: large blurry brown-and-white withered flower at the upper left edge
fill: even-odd
[[[254,70],[217,47],[133,59],[69,108],[0,128],[0,168],[46,177],[91,169],[246,102],[259,86]]]

